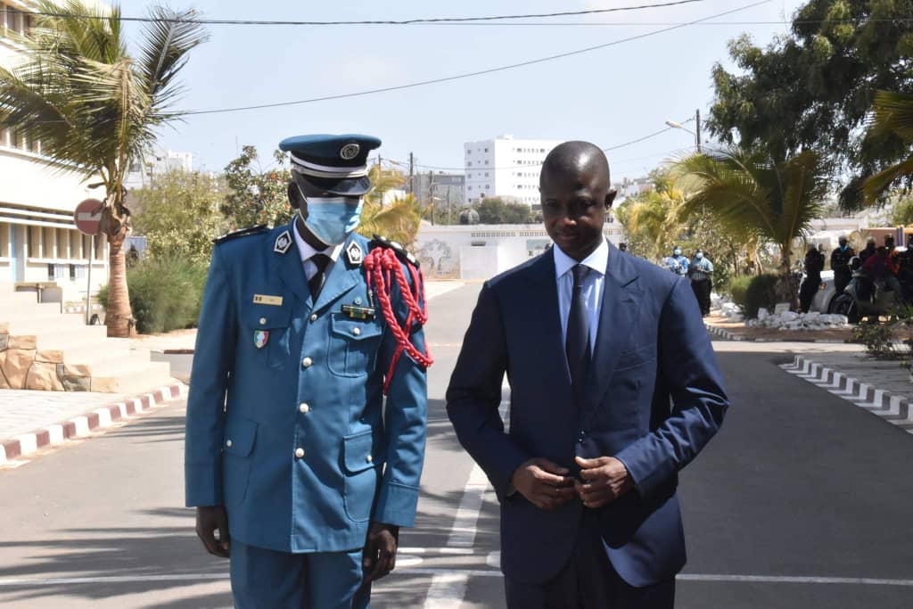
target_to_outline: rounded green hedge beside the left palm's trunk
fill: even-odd
[[[146,258],[127,270],[136,331],[155,334],[192,328],[200,317],[207,268],[174,258]],[[99,292],[107,308],[108,287]]]

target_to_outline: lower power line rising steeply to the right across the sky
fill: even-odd
[[[507,66],[498,66],[497,68],[481,69],[481,70],[477,70],[475,72],[466,72],[463,74],[456,74],[454,76],[447,76],[447,77],[438,78],[438,79],[419,80],[417,82],[410,82],[410,83],[407,83],[404,85],[381,87],[379,89],[367,89],[367,90],[362,90],[362,91],[354,91],[352,93],[325,95],[325,96],[322,96],[319,98],[310,98],[309,100],[278,101],[278,102],[274,102],[274,103],[257,104],[257,105],[252,105],[252,106],[238,106],[236,108],[222,108],[222,109],[215,109],[215,110],[187,110],[187,111],[179,112],[179,113],[184,114],[184,115],[200,115],[200,114],[217,114],[217,113],[223,113],[223,112],[238,112],[238,111],[242,111],[242,110],[264,110],[267,108],[281,108],[281,107],[285,107],[285,106],[298,106],[298,105],[302,105],[302,104],[316,103],[318,101],[344,100],[344,99],[348,99],[348,98],[362,97],[364,95],[373,95],[374,93],[384,93],[384,92],[396,91],[396,90],[402,90],[402,89],[415,89],[416,87],[424,87],[427,85],[434,85],[434,84],[438,84],[438,83],[442,83],[442,82],[449,82],[451,80],[469,79],[469,78],[473,78],[473,77],[477,77],[477,76],[483,76],[486,74],[494,74],[496,72],[503,72],[503,71],[506,71],[509,69],[525,68],[526,66],[532,66],[535,64],[545,63],[547,61],[553,61],[555,59],[568,58],[568,57],[572,57],[575,55],[582,55],[583,53],[590,53],[592,51],[599,50],[602,48],[615,47],[617,45],[624,44],[625,42],[633,42],[635,40],[641,40],[641,39],[647,38],[647,37],[654,37],[659,34],[665,34],[666,32],[671,32],[673,30],[681,29],[682,27],[693,26],[698,23],[703,23],[704,21],[709,21],[710,19],[715,19],[719,16],[731,15],[733,13],[738,13],[740,11],[744,11],[749,8],[753,8],[755,6],[766,5],[769,2],[771,2],[771,0],[761,0],[760,2],[755,2],[750,5],[741,6],[740,8],[734,8],[729,11],[724,11],[722,13],[718,13],[716,15],[702,17],[702,18],[696,19],[694,21],[688,21],[687,23],[680,24],[677,26],[664,27],[663,29],[656,29],[656,30],[653,30],[652,32],[645,32],[644,34],[639,34],[637,36],[613,40],[612,42],[607,42],[602,45],[596,45],[595,47],[580,48],[577,50],[568,51],[567,53],[551,55],[551,56],[545,57],[545,58],[530,59],[528,61],[521,61],[519,63],[509,64]]]

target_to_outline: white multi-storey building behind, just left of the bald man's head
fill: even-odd
[[[540,208],[539,173],[546,155],[557,140],[515,140],[501,135],[494,140],[463,144],[466,167],[466,204],[485,197]]]

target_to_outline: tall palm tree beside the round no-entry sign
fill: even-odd
[[[156,128],[174,121],[169,110],[181,92],[177,75],[205,33],[175,13],[152,8],[138,57],[128,52],[121,10],[82,0],[35,0],[34,26],[16,42],[25,60],[0,68],[0,126],[41,142],[47,164],[78,172],[91,187],[104,186],[101,231],[110,246],[108,335],[131,329],[123,241],[130,232],[124,179],[131,163],[156,139]],[[43,15],[42,15],[43,14]],[[183,20],[183,21],[182,21]]]

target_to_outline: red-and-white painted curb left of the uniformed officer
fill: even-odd
[[[76,416],[64,423],[48,425],[30,434],[23,434],[0,442],[0,466],[16,457],[27,457],[46,446],[58,446],[68,440],[88,436],[91,432],[110,427],[115,421],[129,419],[133,415],[148,413],[166,402],[183,397],[187,385],[174,383],[165,385],[150,394],[96,408],[85,415]]]

